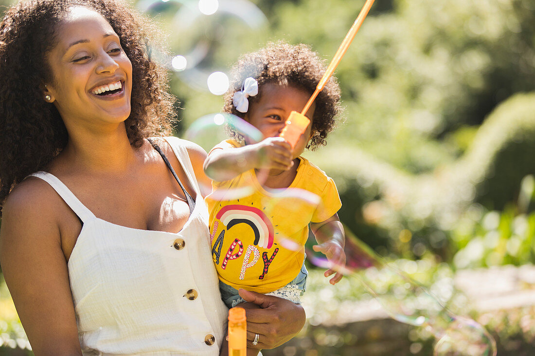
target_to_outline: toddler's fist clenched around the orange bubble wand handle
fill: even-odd
[[[268,137],[255,144],[257,167],[288,171],[293,166],[292,146],[282,137]]]

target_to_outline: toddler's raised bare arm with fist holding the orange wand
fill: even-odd
[[[204,161],[204,172],[212,180],[223,182],[254,168],[287,171],[292,165],[290,144],[282,137],[268,137],[238,148],[216,147]]]

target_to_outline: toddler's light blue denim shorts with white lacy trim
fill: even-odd
[[[284,287],[279,288],[276,291],[266,293],[266,294],[288,299],[288,300],[293,301],[296,304],[301,304],[299,301],[299,297],[301,297],[305,291],[305,288],[307,286],[307,277],[308,277],[307,267],[304,266],[304,262],[303,262],[303,266],[301,266],[301,270],[299,271],[299,274],[297,274],[297,276],[294,278],[292,282],[286,284]],[[247,289],[247,288],[244,288],[244,289]],[[221,291],[221,299],[223,299],[226,306],[229,308],[233,308],[236,305],[245,301],[243,300],[243,298],[241,298],[238,295],[237,289],[221,281],[219,281],[219,290]]]

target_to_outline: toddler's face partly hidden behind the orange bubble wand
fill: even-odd
[[[310,94],[303,89],[292,86],[278,86],[267,83],[262,86],[262,97],[258,102],[252,103],[245,119],[256,127],[264,138],[280,135],[285,121],[292,111],[301,112],[307,104]],[[303,153],[310,137],[312,137],[312,117],[316,104],[312,104],[305,114],[310,124],[294,147],[293,156],[296,158]]]

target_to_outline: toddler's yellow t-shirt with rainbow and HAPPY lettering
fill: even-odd
[[[226,140],[216,148],[239,146]],[[230,181],[212,182],[205,201],[212,258],[222,282],[259,293],[284,287],[303,265],[309,223],[327,220],[342,206],[334,181],[299,159],[287,189],[264,189],[254,169]]]

